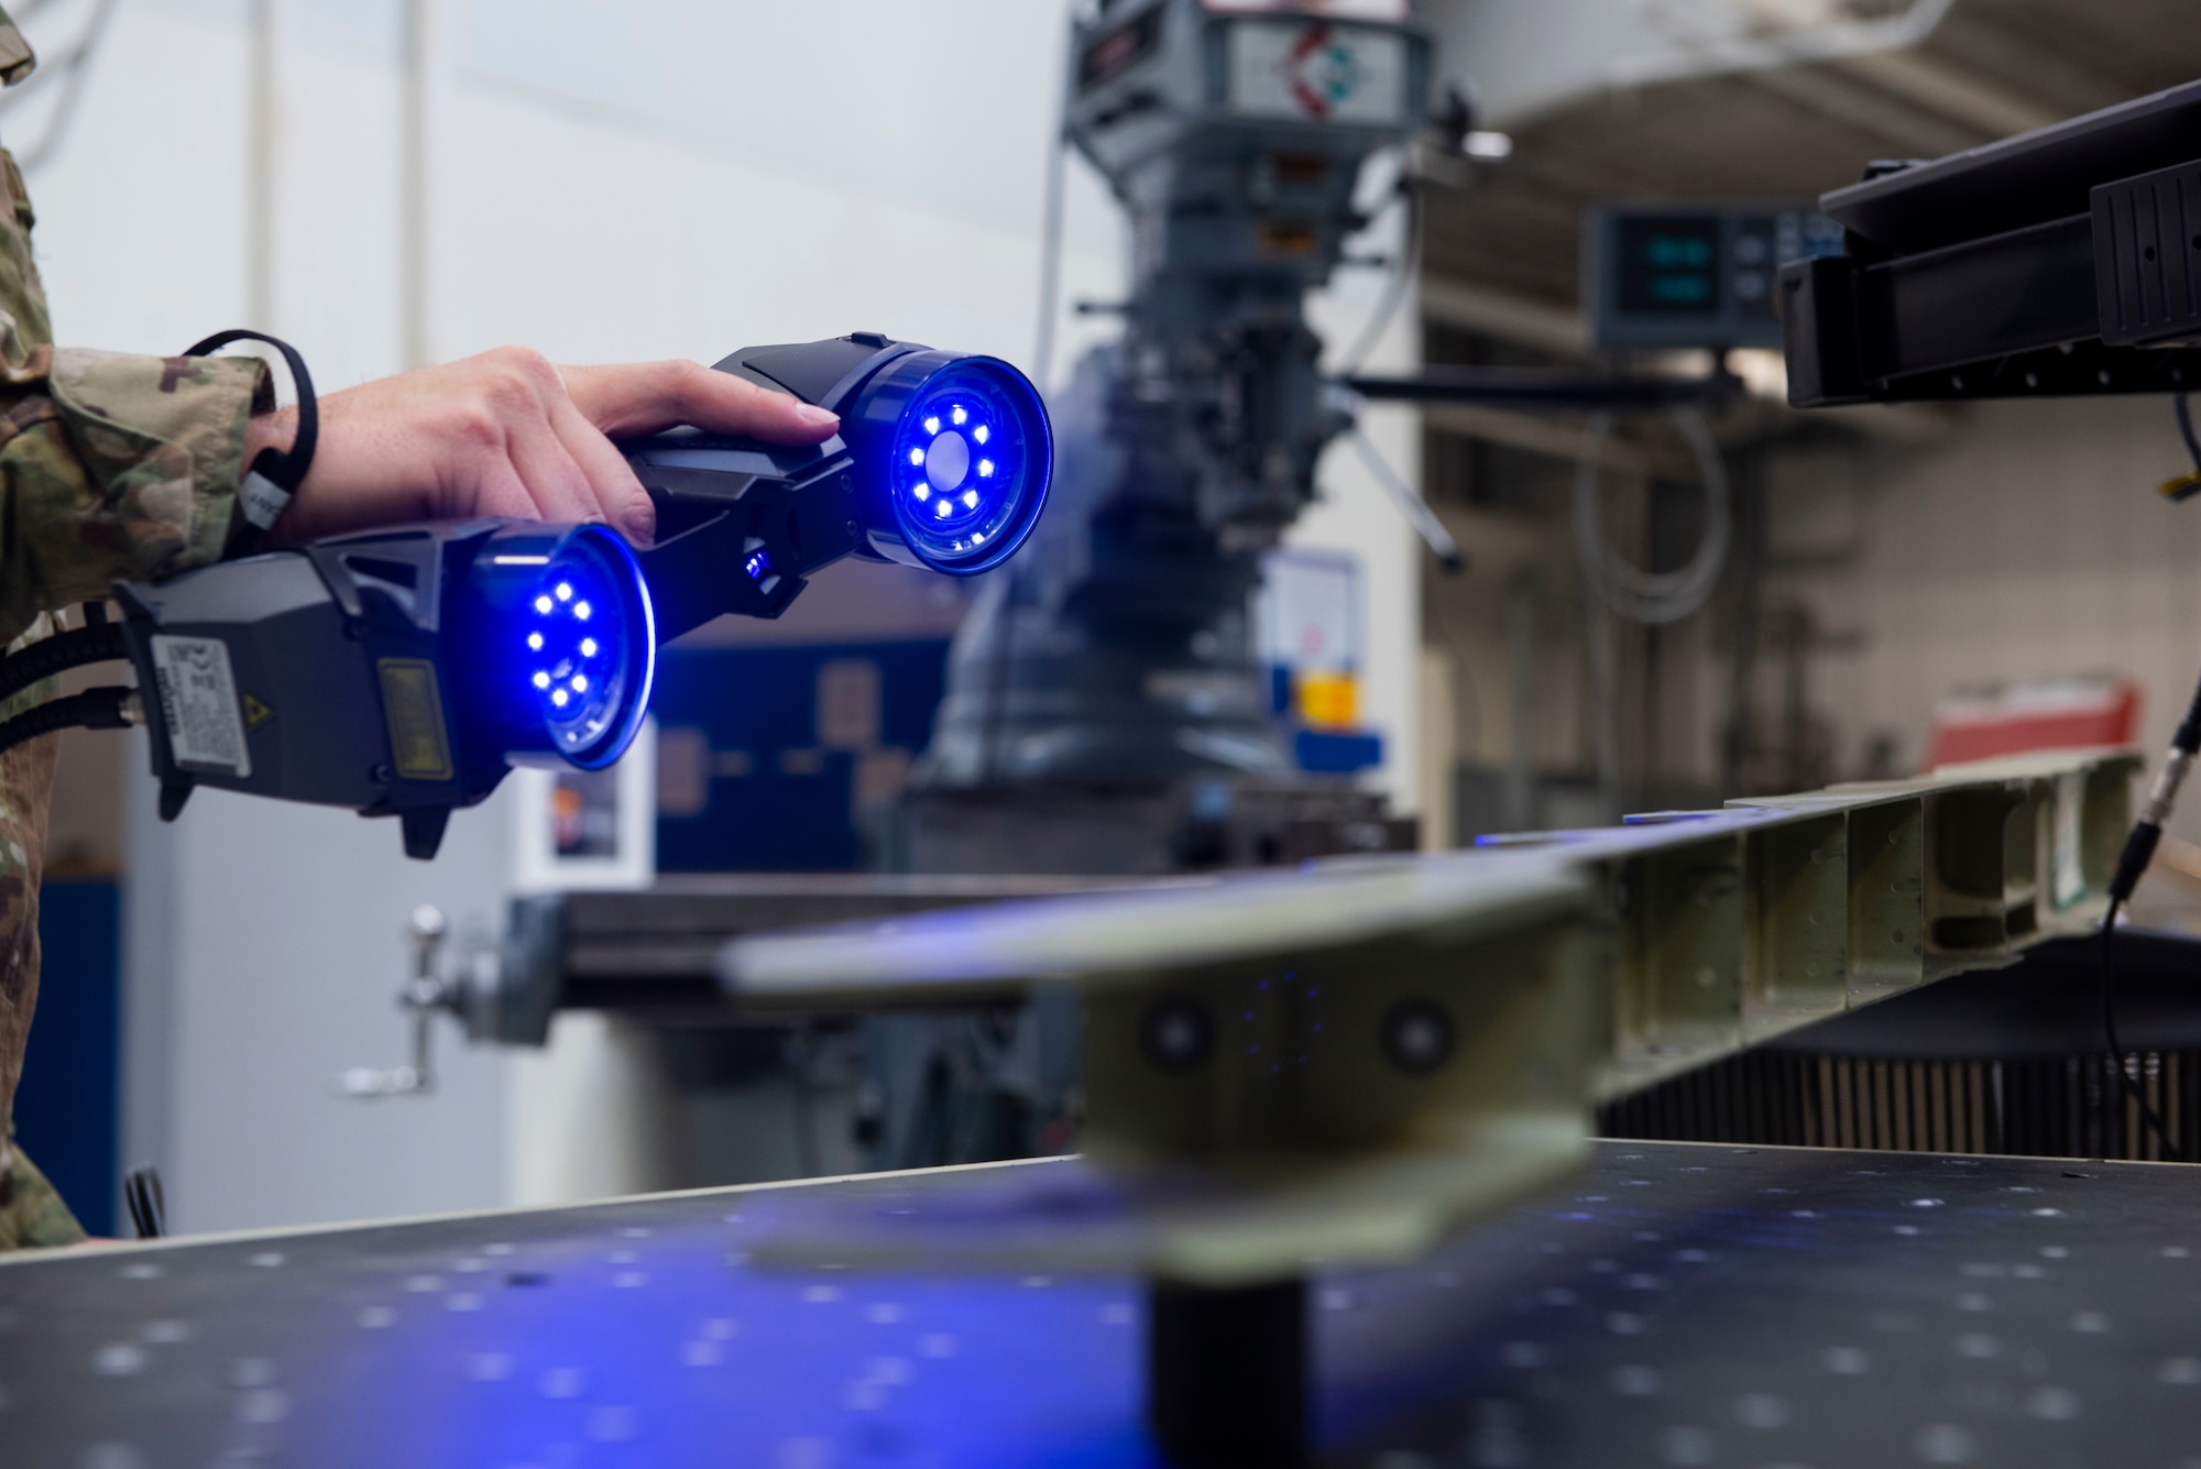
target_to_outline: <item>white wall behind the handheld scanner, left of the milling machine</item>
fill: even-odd
[[[876,328],[1026,361],[1061,0],[449,0],[431,139],[436,356],[715,356]],[[324,389],[401,365],[401,9],[291,0],[273,319]],[[46,51],[86,13],[31,26]],[[33,176],[62,341],[174,352],[244,325],[242,2],[119,7],[64,152]],[[4,121],[26,143],[40,106]],[[1120,290],[1116,213],[1072,169],[1065,299]],[[1063,361],[1074,352],[1074,332]],[[854,578],[850,587],[854,594]],[[150,818],[132,759],[130,1161],[183,1229],[497,1203],[504,1062],[434,1100],[341,1102],[398,1058],[403,921],[489,917],[504,818],[434,866],[387,822],[200,794]],[[449,1040],[449,1036],[445,1036]]]

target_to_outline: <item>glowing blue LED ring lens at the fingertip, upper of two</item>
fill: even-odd
[[[1032,534],[1054,477],[1054,433],[1039,389],[1008,363],[911,352],[856,394],[845,424],[880,554],[971,576]]]

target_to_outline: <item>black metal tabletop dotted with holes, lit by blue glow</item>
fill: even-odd
[[[790,1205],[953,1185],[13,1260],[4,1462],[1158,1462],[1140,1282],[751,1262]],[[1600,1144],[1428,1260],[1314,1280],[1323,1462],[2197,1465],[2197,1205],[2177,1166]]]

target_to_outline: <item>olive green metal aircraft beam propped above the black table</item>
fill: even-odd
[[[810,1214],[773,1253],[1197,1286],[1413,1258],[1589,1155],[1598,1102],[2106,910],[2128,750],[1362,858],[737,939],[744,1007],[1074,985],[1083,1170]]]

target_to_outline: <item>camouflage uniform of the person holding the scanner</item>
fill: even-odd
[[[35,59],[0,11],[0,84]],[[31,262],[31,200],[0,152],[0,644],[117,578],[220,559],[238,523],[244,424],[271,407],[251,358],[55,350]],[[0,717],[51,697],[31,688]],[[84,1238],[44,1174],[9,1148],[37,1005],[37,882],[59,737],[0,754],[0,1249]]]

